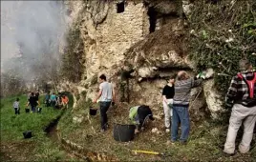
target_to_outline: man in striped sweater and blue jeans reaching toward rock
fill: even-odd
[[[175,82],[175,95],[173,98],[173,117],[171,128],[171,141],[178,141],[178,129],[181,123],[181,144],[185,144],[190,130],[189,100],[191,89],[200,86],[202,79],[190,78],[187,72],[179,71]]]

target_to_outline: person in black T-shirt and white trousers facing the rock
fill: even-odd
[[[170,132],[170,119],[173,115],[172,113],[172,104],[173,104],[173,96],[174,96],[174,81],[175,75],[171,76],[168,80],[167,85],[164,86],[162,90],[162,105],[164,111],[164,125],[165,132]]]

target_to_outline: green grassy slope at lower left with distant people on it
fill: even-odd
[[[15,115],[12,103],[20,98],[20,114]],[[43,100],[44,96],[40,97]],[[72,98],[72,97],[70,97]],[[41,113],[26,113],[27,96],[12,96],[1,99],[1,161],[64,161],[75,160],[64,152],[57,142],[46,136],[44,129],[61,114],[60,110],[46,108],[41,102]],[[73,100],[71,99],[71,104]],[[24,139],[23,133],[32,131],[32,138]]]

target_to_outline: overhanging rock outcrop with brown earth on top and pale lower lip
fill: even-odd
[[[125,71],[133,70],[133,76],[145,78],[156,77],[163,71],[190,69],[185,53],[185,30],[181,20],[176,23],[163,26],[129,49],[123,61]]]

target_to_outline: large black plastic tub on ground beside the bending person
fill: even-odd
[[[134,139],[135,125],[114,124],[114,139],[120,142],[128,142]]]

